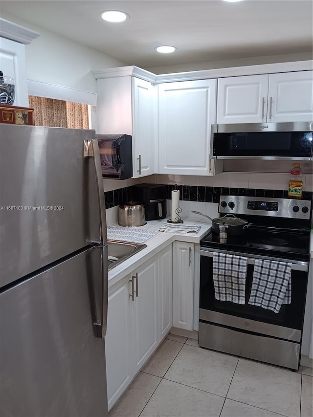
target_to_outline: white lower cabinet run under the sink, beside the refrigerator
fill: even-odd
[[[105,337],[109,410],[172,327],[172,244],[113,285]]]

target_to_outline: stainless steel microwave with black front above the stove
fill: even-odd
[[[312,160],[313,123],[220,124],[211,127],[211,159]]]

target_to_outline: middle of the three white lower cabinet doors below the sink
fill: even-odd
[[[144,365],[158,343],[157,265],[157,256],[155,256],[132,274],[135,277],[136,291],[135,300],[132,302],[134,373]]]

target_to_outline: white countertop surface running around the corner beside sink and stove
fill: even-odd
[[[161,220],[150,220],[147,221],[147,224],[134,227],[134,230],[158,230],[160,227],[163,226],[163,223],[166,222],[167,219]],[[130,274],[141,265],[143,262],[148,261],[150,258],[156,255],[157,252],[164,249],[173,241],[183,241],[183,242],[190,242],[190,243],[200,243],[200,240],[209,233],[211,230],[211,222],[207,221],[196,221],[194,219],[184,219],[184,225],[194,226],[201,226],[201,229],[198,233],[169,233],[169,232],[159,232],[156,236],[145,241],[144,244],[147,245],[146,248],[142,249],[140,252],[136,253],[126,261],[120,263],[119,265],[115,266],[109,271],[109,288],[116,284],[119,280],[124,278],[126,275]],[[115,224],[114,224],[115,226]],[[117,224],[116,224],[117,226]],[[120,226],[121,227],[121,226]],[[127,230],[129,228],[127,227]],[[144,260],[142,258],[144,257]]]

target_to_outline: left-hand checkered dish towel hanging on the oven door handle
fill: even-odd
[[[245,304],[247,258],[213,253],[213,282],[215,298]]]

